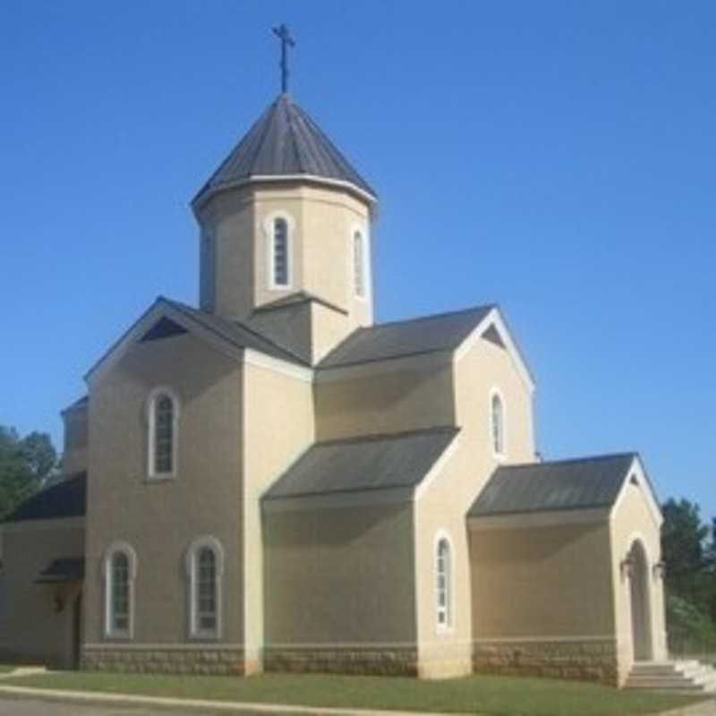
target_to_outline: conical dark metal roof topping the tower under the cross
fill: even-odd
[[[194,203],[228,184],[256,176],[318,176],[376,192],[294,100],[281,94],[201,187]]]

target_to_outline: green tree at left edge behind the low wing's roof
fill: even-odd
[[[0,520],[37,492],[56,465],[57,453],[47,433],[21,438],[14,428],[0,425]]]

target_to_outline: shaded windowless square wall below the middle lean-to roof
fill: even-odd
[[[414,645],[410,503],[315,504],[264,514],[267,648]]]

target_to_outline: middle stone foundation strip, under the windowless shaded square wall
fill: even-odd
[[[414,677],[418,675],[418,652],[414,647],[269,647],[264,650],[263,666],[264,671],[287,673]]]

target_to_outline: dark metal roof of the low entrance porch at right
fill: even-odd
[[[504,465],[470,507],[473,517],[611,507],[635,453],[529,465]]]

